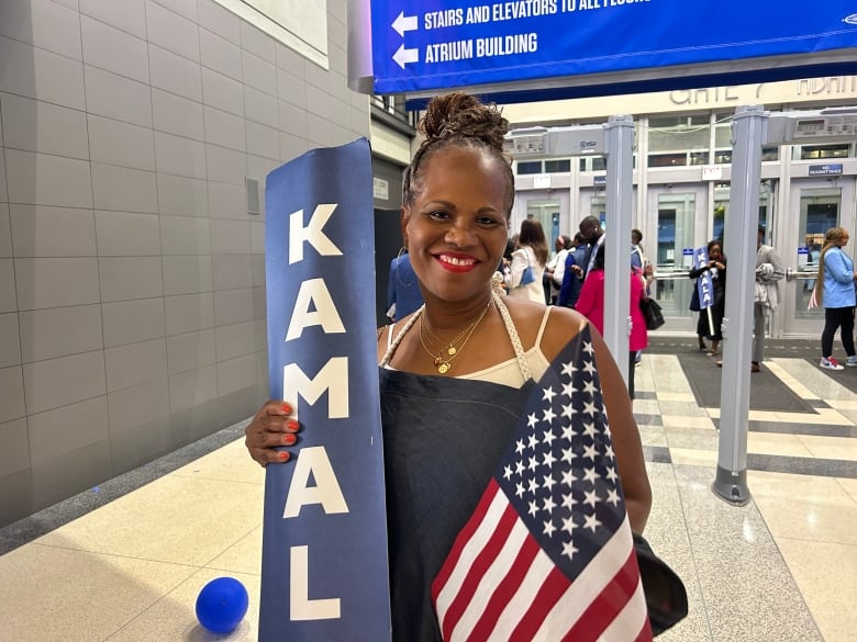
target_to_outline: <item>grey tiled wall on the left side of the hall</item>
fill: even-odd
[[[0,526],[266,398],[245,177],[369,132],[327,11],[330,70],[212,0],[0,2]]]

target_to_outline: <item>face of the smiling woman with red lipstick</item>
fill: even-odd
[[[402,207],[402,236],[424,293],[445,301],[483,294],[505,250],[507,179],[499,161],[452,147],[432,156]]]

